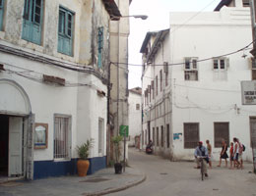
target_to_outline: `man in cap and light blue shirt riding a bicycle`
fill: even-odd
[[[205,146],[203,146],[203,142],[200,141],[198,142],[198,146],[195,149],[195,158],[196,158],[196,163],[197,163],[197,169],[200,169],[200,159],[204,157],[203,161],[203,168],[204,168],[204,173],[205,176],[208,177],[207,173],[207,161],[208,161],[208,151]]]

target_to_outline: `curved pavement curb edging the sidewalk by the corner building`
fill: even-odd
[[[95,192],[95,193],[83,193],[82,195],[83,196],[100,196],[100,195],[106,195],[106,194],[109,194],[109,193],[119,192],[119,191],[122,191],[122,190],[125,190],[125,189],[128,189],[128,188],[131,188],[133,186],[137,186],[138,184],[144,182],[146,180],[146,178],[147,178],[147,176],[145,174],[143,174],[142,179],[140,179],[138,181],[135,181],[135,182],[132,182],[128,185],[121,186],[119,188],[110,188],[110,189],[98,191],[98,192]]]

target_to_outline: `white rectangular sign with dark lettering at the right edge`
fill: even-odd
[[[243,105],[256,105],[256,80],[241,81]]]

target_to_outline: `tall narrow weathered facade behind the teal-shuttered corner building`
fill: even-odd
[[[111,137],[119,134],[120,125],[128,125],[128,37],[129,6],[132,0],[115,2],[124,18],[112,18],[110,23],[109,144]],[[109,160],[113,160],[111,145],[108,152]]]

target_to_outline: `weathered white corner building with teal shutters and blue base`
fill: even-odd
[[[109,20],[114,1],[0,1],[0,173],[76,173],[94,138],[90,173],[106,167]]]

